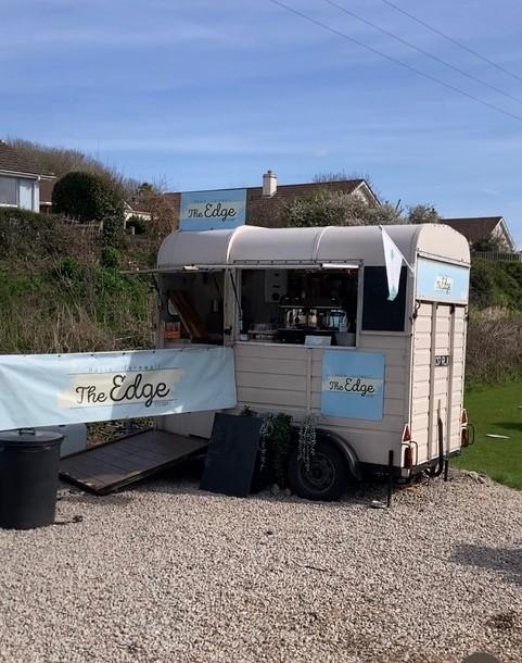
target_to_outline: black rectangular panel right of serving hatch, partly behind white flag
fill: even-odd
[[[404,332],[407,267],[400,270],[398,293],[389,301],[386,267],[365,267],[362,329]]]

